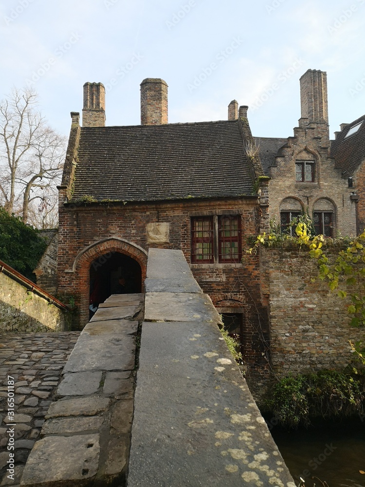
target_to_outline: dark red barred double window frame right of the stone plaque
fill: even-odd
[[[197,233],[202,233],[204,230],[194,229],[197,222],[210,222],[210,236],[198,236]],[[224,223],[230,221],[231,224]],[[234,223],[236,221],[236,223]],[[212,216],[191,216],[191,263],[192,264],[225,264],[225,263],[241,263],[242,259],[242,216],[240,214],[223,213],[221,215]],[[232,227],[232,223],[234,224]],[[224,234],[223,234],[224,233]],[[210,243],[211,253],[209,258],[200,259],[199,255],[203,253],[197,252],[197,244]],[[228,245],[227,245],[228,244]],[[233,246],[232,246],[233,244]],[[235,249],[232,254],[231,251],[224,252],[223,249]],[[232,256],[233,255],[233,256]]]

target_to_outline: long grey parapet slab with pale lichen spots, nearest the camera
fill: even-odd
[[[128,487],[147,485],[295,487],[213,323],[142,327]]]

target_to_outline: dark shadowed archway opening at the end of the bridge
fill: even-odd
[[[90,265],[91,312],[112,294],[142,292],[140,264],[128,255],[119,252],[103,254]]]

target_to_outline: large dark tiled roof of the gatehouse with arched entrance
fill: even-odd
[[[238,121],[82,128],[73,200],[251,195]]]

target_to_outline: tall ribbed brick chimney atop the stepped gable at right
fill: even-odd
[[[309,69],[300,78],[301,117],[328,124],[327,73]]]

